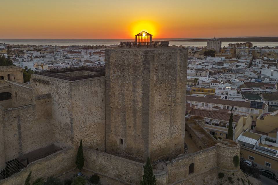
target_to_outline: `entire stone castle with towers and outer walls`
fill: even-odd
[[[239,145],[215,140],[203,119],[185,118],[187,49],[164,41],[120,46],[106,49],[105,68],[37,71],[30,85],[7,77],[0,184],[24,184],[29,171],[35,179],[74,169],[80,139],[84,169],[119,184],[140,184],[147,157],[159,185],[247,182],[233,162]],[[11,163],[24,169],[12,174]]]

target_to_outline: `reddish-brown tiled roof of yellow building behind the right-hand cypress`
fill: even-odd
[[[218,112],[213,110],[200,110],[194,108],[189,112],[189,115],[202,116],[205,118],[218,119],[223,121],[229,121],[230,119],[230,113]],[[240,117],[241,116],[233,115],[233,122],[237,123]]]

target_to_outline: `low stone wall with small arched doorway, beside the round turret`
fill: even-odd
[[[189,153],[167,162],[168,184],[180,182],[189,177],[189,165],[194,163],[195,175],[217,167],[217,147],[213,146],[195,153]]]

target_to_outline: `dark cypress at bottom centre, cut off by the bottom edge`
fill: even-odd
[[[149,157],[144,166],[144,175],[140,185],[156,185],[156,177],[153,175],[153,167]]]

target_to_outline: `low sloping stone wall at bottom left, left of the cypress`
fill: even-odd
[[[75,165],[76,150],[67,148],[58,151],[50,156],[31,162],[25,169],[0,181],[1,185],[22,185],[24,184],[29,171],[31,174],[31,183],[39,177],[58,176],[76,168]],[[30,183],[30,184],[31,184]]]

